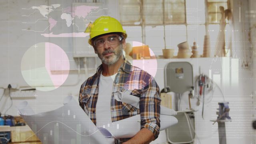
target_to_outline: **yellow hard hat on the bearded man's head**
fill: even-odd
[[[84,32],[90,32],[90,38],[88,40],[90,45],[92,45],[92,38],[111,32],[122,32],[124,38],[127,38],[126,31],[123,30],[120,22],[110,16],[100,16],[92,24],[90,23]]]

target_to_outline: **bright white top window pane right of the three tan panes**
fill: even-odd
[[[204,24],[204,11],[204,0],[186,0],[186,16],[188,24]]]

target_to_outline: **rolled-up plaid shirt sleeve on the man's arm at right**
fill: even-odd
[[[158,138],[160,131],[160,92],[152,76],[146,77],[145,86],[140,96],[141,128],[147,128]]]

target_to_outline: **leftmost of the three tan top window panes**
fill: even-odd
[[[120,22],[123,25],[140,24],[140,2],[138,0],[120,1]]]

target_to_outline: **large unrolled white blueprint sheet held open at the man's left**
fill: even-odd
[[[31,111],[27,106],[19,107],[20,116],[43,144],[110,144],[112,141],[101,134],[72,96],[65,98],[64,106],[49,112],[24,115]]]

